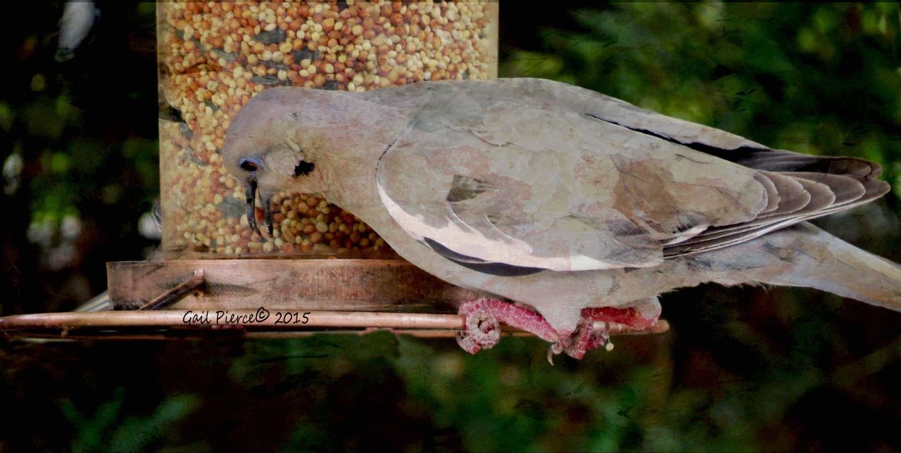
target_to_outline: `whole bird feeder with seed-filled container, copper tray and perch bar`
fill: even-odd
[[[462,329],[448,303],[480,294],[398,258],[340,206],[278,194],[272,236],[252,231],[244,189],[220,149],[234,114],[272,87],[366,91],[496,77],[497,3],[159,2],[157,16],[166,260],[109,263],[116,313],[24,315],[0,330],[169,338],[226,326],[257,336]],[[254,215],[262,222],[261,208]],[[167,310],[148,312],[159,308]]]

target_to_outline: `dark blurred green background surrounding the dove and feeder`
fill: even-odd
[[[61,6],[5,5],[0,315],[71,310],[155,247],[154,5],[101,3],[58,63]],[[587,86],[773,147],[878,161],[894,194],[817,222],[901,260],[898,6],[501,5],[501,75]],[[705,285],[672,330],[545,362],[540,340],[0,340],[0,451],[901,449],[901,314]]]

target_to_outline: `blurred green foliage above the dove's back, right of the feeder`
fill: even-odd
[[[898,6],[614,4],[543,30],[505,77],[613,95],[780,149],[875,160],[901,189]],[[897,192],[896,192],[897,193]]]

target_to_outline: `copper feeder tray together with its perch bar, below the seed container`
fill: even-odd
[[[10,338],[175,340],[392,331],[451,338],[455,305],[482,294],[400,259],[204,259],[108,263],[110,309],[0,318]],[[596,322],[611,335],[634,331]],[[505,336],[530,335],[504,328]]]

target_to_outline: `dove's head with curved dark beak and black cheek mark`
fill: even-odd
[[[315,112],[328,110],[327,97],[319,90],[272,88],[255,96],[232,119],[222,148],[223,165],[244,186],[247,220],[254,231],[259,233],[258,192],[270,236],[272,195],[322,193],[321,168],[330,160],[322,132],[328,128]]]

